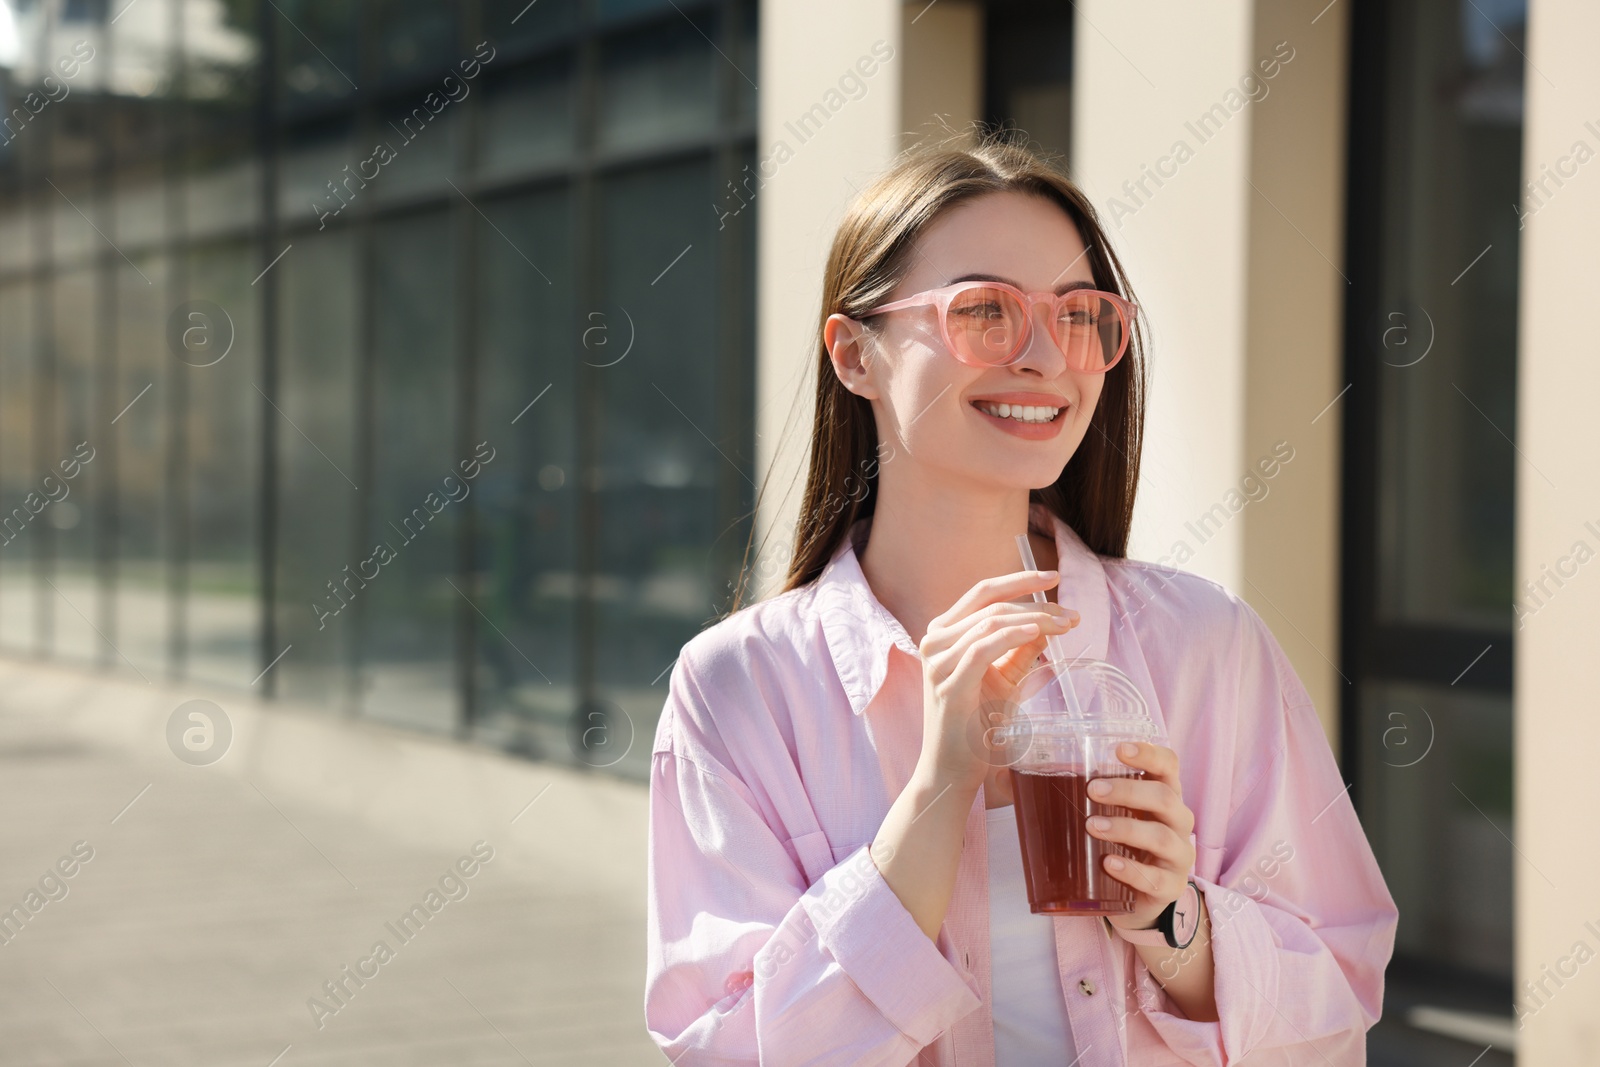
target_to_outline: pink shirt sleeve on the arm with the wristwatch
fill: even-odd
[[[1182,1016],[1133,953],[1139,1008],[1190,1064],[1365,1062],[1398,912],[1310,697],[1245,616],[1238,728],[1254,757],[1234,776],[1222,846],[1195,862],[1218,1021]]]

